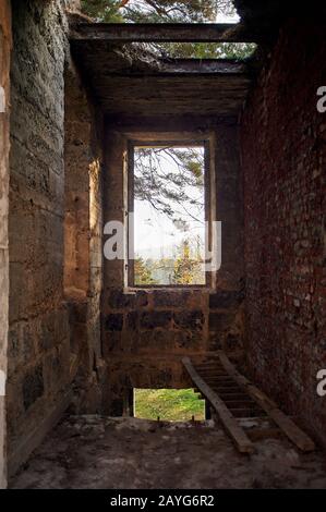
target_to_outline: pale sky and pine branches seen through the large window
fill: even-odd
[[[133,284],[206,284],[205,144],[133,151]]]

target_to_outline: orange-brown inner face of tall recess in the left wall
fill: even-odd
[[[86,300],[89,288],[89,166],[92,115],[84,88],[73,68],[65,71],[64,122],[64,293]]]

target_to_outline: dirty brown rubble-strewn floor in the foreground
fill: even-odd
[[[214,422],[158,424],[70,416],[12,479],[14,489],[326,488],[325,453],[285,439],[240,455]]]

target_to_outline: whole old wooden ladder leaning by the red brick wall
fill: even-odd
[[[254,441],[281,434],[303,452],[315,450],[312,439],[243,377],[222,351],[217,357],[196,366],[189,357],[184,357],[182,363],[195,391],[216,411],[240,453],[253,453]]]

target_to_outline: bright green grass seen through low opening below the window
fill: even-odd
[[[193,389],[135,389],[135,417],[166,422],[205,419],[205,402]]]

